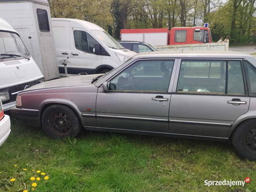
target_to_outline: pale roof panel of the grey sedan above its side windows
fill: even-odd
[[[253,57],[244,52],[235,51],[154,51],[141,52],[136,54],[133,58],[246,58]]]

